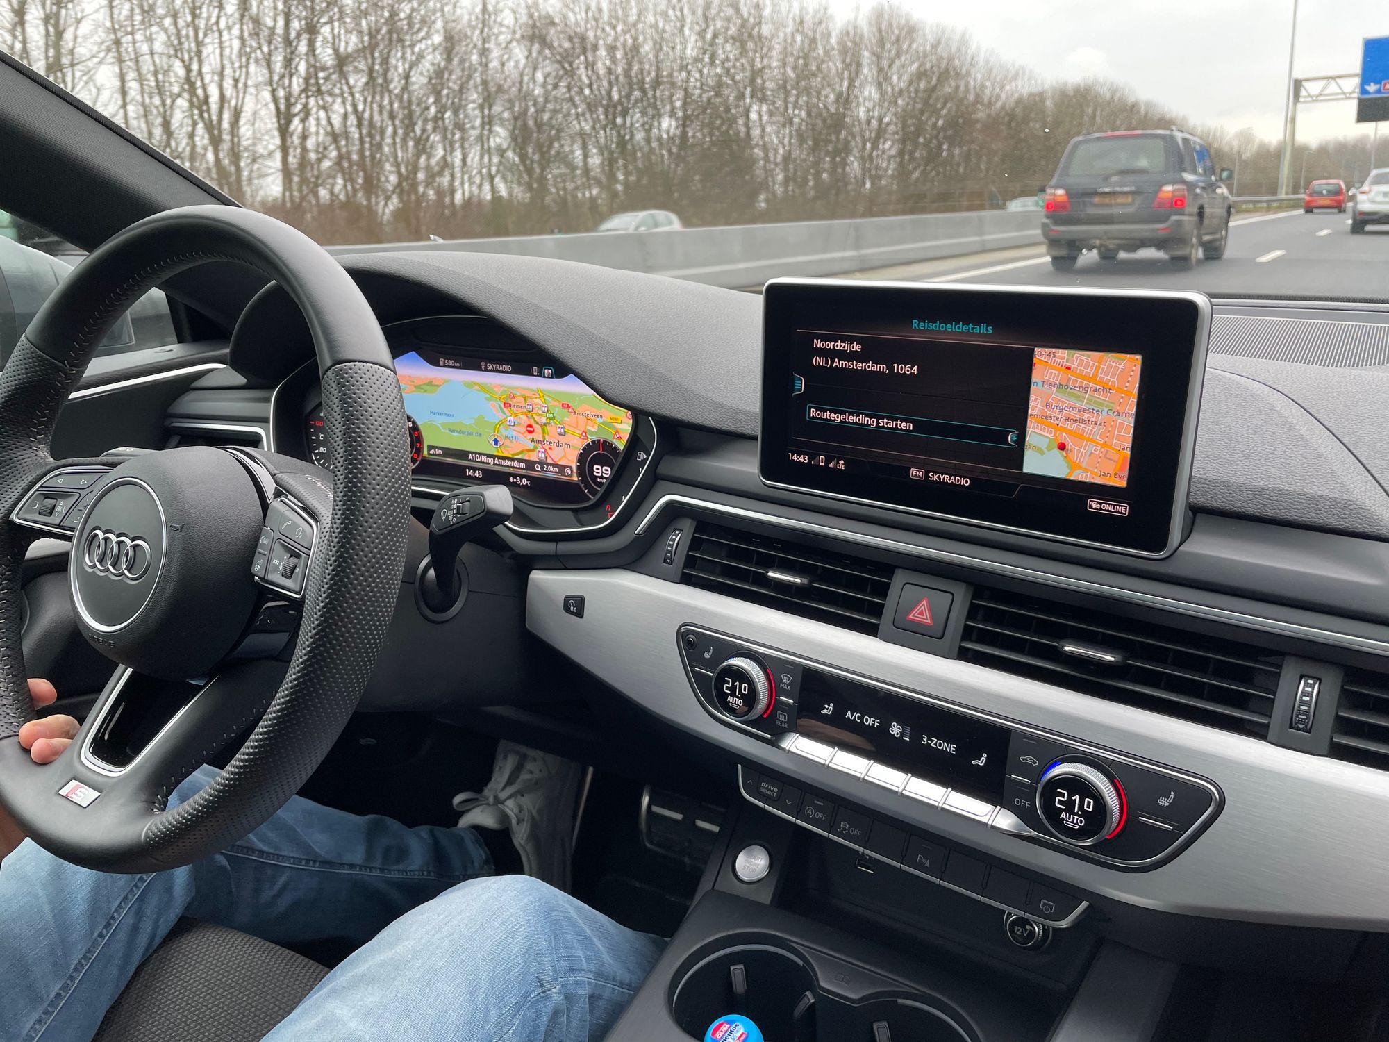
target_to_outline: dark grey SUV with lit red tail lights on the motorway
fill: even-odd
[[[1233,200],[1206,144],[1182,131],[1113,131],[1075,138],[1046,189],[1042,238],[1051,267],[1085,250],[1115,260],[1156,246],[1179,268],[1220,260]]]

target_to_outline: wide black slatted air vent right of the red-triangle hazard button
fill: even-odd
[[[1282,668],[1251,645],[985,588],[970,604],[960,657],[1258,738]]]

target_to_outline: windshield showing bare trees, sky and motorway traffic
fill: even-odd
[[[795,272],[1389,297],[1389,213],[1328,183],[1389,181],[1371,175],[1389,167],[1389,6],[1170,14],[53,0],[0,4],[0,47],[329,247],[733,289]],[[961,214],[985,218],[965,235]]]

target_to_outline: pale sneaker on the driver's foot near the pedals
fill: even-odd
[[[463,813],[458,828],[508,831],[521,871],[568,891],[581,775],[576,763],[499,742],[486,788],[453,797],[453,809]]]

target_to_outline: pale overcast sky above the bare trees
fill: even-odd
[[[871,0],[829,0],[840,15]],[[890,0],[967,29],[1043,76],[1101,75],[1164,101],[1192,124],[1282,138],[1292,0]],[[1360,71],[1365,36],[1389,36],[1389,0],[1300,0],[1296,76]],[[1297,140],[1368,132],[1356,103],[1304,104]],[[1381,126],[1389,135],[1389,122]]]

